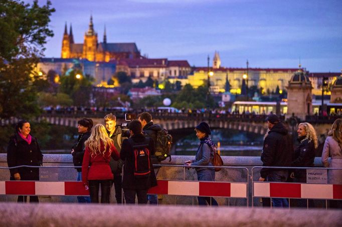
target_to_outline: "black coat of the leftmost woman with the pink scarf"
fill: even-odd
[[[43,154],[37,139],[32,136],[31,144],[29,144],[19,134],[11,136],[7,147],[7,164],[9,167],[43,165]],[[11,179],[14,179],[14,174],[17,172],[20,174],[21,180],[39,180],[39,168],[12,168],[10,169]]]

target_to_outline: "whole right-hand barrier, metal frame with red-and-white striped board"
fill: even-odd
[[[304,169],[307,171],[307,180],[316,182],[274,182],[274,181],[256,181],[254,180],[254,169],[270,168],[283,170]],[[316,169],[316,170],[314,170]],[[318,168],[318,167],[274,167],[274,166],[254,166],[252,168],[252,206],[254,206],[254,198],[287,198],[289,199],[289,207],[291,207],[292,199],[306,199],[306,207],[309,207],[309,199],[325,200],[325,208],[327,208],[327,200],[342,199],[342,184],[329,184],[325,177],[324,171],[337,170],[342,168]],[[312,171],[311,171],[312,170]],[[317,173],[317,176],[312,177]],[[310,176],[311,175],[311,176]],[[323,176],[323,177],[320,177]],[[326,183],[322,183],[322,181]],[[272,202],[270,203],[272,206]]]

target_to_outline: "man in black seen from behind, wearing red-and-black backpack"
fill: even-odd
[[[122,188],[127,203],[135,203],[135,195],[139,204],[147,203],[147,190],[156,186],[156,177],[154,171],[150,171],[145,177],[138,178],[134,175],[135,158],[133,145],[137,143],[146,144],[150,154],[155,153],[154,142],[150,138],[145,138],[141,133],[141,123],[138,120],[129,122],[128,128],[130,138],[123,140],[120,158],[124,161]],[[152,169],[150,163],[149,169]]]

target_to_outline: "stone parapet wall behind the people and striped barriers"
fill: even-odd
[[[194,158],[194,156],[172,156],[172,161],[164,160],[162,164],[167,165],[181,165],[184,161]],[[224,165],[229,167],[244,167],[244,168],[224,168],[216,172],[216,181],[232,181],[232,182],[246,182],[251,180],[252,167],[260,166],[262,162],[260,157],[246,157],[246,156],[222,156]],[[73,168],[72,156],[70,154],[44,154],[44,166],[56,166],[56,168],[49,169],[50,177],[55,180],[75,180],[76,170]],[[57,168],[58,166],[70,166],[70,168]],[[315,158],[315,166],[321,166],[320,158]],[[4,153],[0,154],[0,167],[7,167],[7,156]],[[247,170],[248,169],[248,173]],[[256,168],[253,172],[254,180],[260,176],[260,168]],[[8,180],[10,172],[8,169],[0,169],[0,180]],[[158,179],[177,179],[177,180],[197,180],[195,169],[184,169],[183,167],[164,166],[159,169]],[[114,189],[112,189],[113,192]],[[251,205],[251,184],[249,185],[249,204]],[[159,195],[159,203],[162,204],[197,204],[197,198],[192,196],[174,196],[174,195]],[[0,201],[14,201],[16,196],[1,195]],[[74,202],[74,196],[45,196],[41,198],[42,201],[53,202]],[[220,205],[234,205],[246,206],[247,200],[244,198],[217,198]],[[115,196],[112,193],[111,202],[115,203]],[[318,207],[323,206],[322,202],[316,202]],[[261,206],[258,198],[254,200],[255,206]]]

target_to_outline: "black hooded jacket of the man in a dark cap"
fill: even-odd
[[[263,166],[291,166],[293,153],[292,137],[282,123],[275,124],[264,140],[261,160]],[[262,168],[260,175],[266,178],[269,171],[283,169]]]

